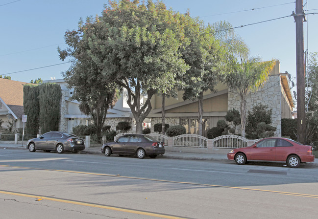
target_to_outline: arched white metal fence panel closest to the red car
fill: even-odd
[[[248,140],[237,135],[221,135],[212,140],[214,148],[244,148]]]

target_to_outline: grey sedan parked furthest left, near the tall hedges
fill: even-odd
[[[85,142],[84,139],[71,133],[49,131],[38,138],[28,140],[26,146],[30,152],[43,150],[46,152],[56,151],[57,153],[64,151],[77,153],[85,149]]]

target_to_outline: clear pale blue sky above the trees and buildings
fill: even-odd
[[[248,45],[250,56],[280,61],[296,84],[295,11],[293,0],[163,0],[180,13],[187,9],[206,24],[227,21]],[[303,0],[308,13],[318,13],[318,0]],[[30,82],[62,79],[69,59],[59,59],[57,46],[66,48],[64,34],[76,29],[80,18],[101,15],[108,0],[0,0],[0,75]],[[252,10],[254,9],[254,10]],[[277,19],[274,21],[268,21]],[[304,22],[304,48],[318,52],[318,14]],[[248,25],[252,23],[257,23]],[[30,70],[33,69],[33,70]],[[17,73],[14,73],[17,72]]]

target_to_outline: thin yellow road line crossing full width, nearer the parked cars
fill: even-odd
[[[269,192],[269,193],[277,193],[277,194],[292,195],[292,196],[302,196],[302,197],[318,198],[318,195],[300,194],[300,193],[290,193],[290,192],[281,192],[281,191],[264,190],[264,189],[252,189],[252,188],[235,187],[235,186],[221,186],[221,185],[201,184],[201,183],[192,183],[192,182],[179,182],[179,181],[170,181],[170,180],[162,180],[162,179],[150,179],[150,178],[140,178],[140,177],[131,177],[131,176],[122,176],[122,175],[95,174],[95,173],[88,173],[88,172],[66,171],[66,170],[51,170],[51,169],[41,169],[41,168],[31,168],[31,167],[19,167],[19,166],[10,166],[10,165],[0,165],[0,167],[24,168],[24,169],[33,169],[33,170],[46,170],[46,171],[56,171],[56,172],[85,174],[85,175],[101,175],[101,176],[110,176],[110,177],[118,177],[118,178],[129,178],[129,179],[140,179],[140,180],[149,180],[149,181],[157,181],[157,182],[179,183],[179,184],[187,184],[187,185],[198,185],[198,186],[208,186],[208,187],[220,187],[220,188],[230,188],[230,189],[241,189],[241,190],[249,190],[249,191]]]

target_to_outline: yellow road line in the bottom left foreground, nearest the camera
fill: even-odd
[[[158,214],[158,213],[131,210],[131,209],[125,209],[125,208],[101,205],[101,204],[87,203],[87,202],[82,202],[82,201],[66,200],[66,199],[62,199],[62,198],[35,196],[35,195],[29,195],[29,194],[24,194],[24,193],[16,193],[16,192],[8,192],[8,191],[2,191],[2,190],[0,190],[0,193],[7,194],[7,195],[13,195],[13,196],[32,197],[32,198],[37,198],[37,199],[41,198],[41,199],[50,200],[50,201],[57,201],[57,202],[63,202],[63,203],[69,203],[69,204],[83,205],[83,206],[94,207],[94,208],[102,208],[102,209],[113,210],[113,211],[121,211],[121,212],[126,212],[126,213],[131,213],[131,214],[146,215],[146,216],[157,217],[157,218],[186,219],[186,218],[180,218],[180,217],[176,217],[176,216],[170,216],[170,215],[164,215],[164,214]]]

